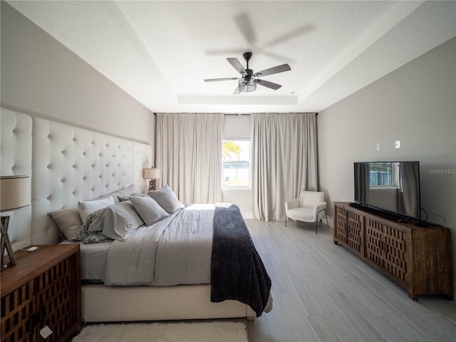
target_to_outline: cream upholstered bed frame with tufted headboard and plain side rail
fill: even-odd
[[[59,229],[56,217],[50,213],[62,213],[65,210],[74,212],[78,202],[100,197],[114,197],[117,204],[117,200],[120,202],[119,197],[145,192],[147,188],[141,171],[152,164],[152,148],[149,145],[44,118],[30,117],[4,108],[1,109],[1,120],[2,136],[12,135],[18,140],[6,146],[2,144],[2,157],[11,156],[12,164],[25,165],[20,173],[30,170],[32,180],[32,205],[16,213],[21,216],[21,227],[10,227],[16,232],[12,238],[15,250],[29,244],[75,243],[62,242],[66,239],[64,229]],[[18,134],[24,131],[24,125],[27,132],[31,130],[31,135],[27,132],[24,135]],[[30,139],[29,137],[32,137],[31,141],[26,142],[24,147],[23,140]],[[15,150],[16,146],[21,149]],[[4,151],[6,148],[7,153]],[[30,148],[29,152],[26,151],[27,148]],[[11,171],[5,171],[4,165],[7,163],[3,159],[2,164],[2,175],[9,174]],[[19,171],[16,170],[15,174],[19,175],[17,172]],[[189,207],[179,211],[184,212],[187,208]],[[172,286],[160,282],[119,286],[114,282],[108,286],[103,277],[90,275],[90,272],[94,272],[93,269],[84,266],[89,260],[96,264],[101,262],[99,260],[108,258],[108,254],[103,251],[103,243],[96,244],[97,246],[80,243],[83,278],[88,280],[82,286],[85,321],[253,319],[258,314],[241,301],[212,302],[211,285],[204,284],[206,281],[193,281],[199,284],[176,283]],[[97,256],[100,258],[98,261]],[[206,271],[207,267],[206,264]]]

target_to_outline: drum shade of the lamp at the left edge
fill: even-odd
[[[27,207],[30,204],[28,176],[0,177],[0,212]]]

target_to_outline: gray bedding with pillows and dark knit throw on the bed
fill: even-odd
[[[165,291],[187,285],[204,290],[209,284],[212,304],[236,300],[256,316],[271,309],[271,280],[236,205],[183,205],[167,186],[150,195],[128,195],[118,196],[116,204],[108,196],[50,213],[66,237],[62,243],[81,244],[85,288],[158,286]],[[92,207],[87,215],[84,204]],[[186,300],[182,304],[188,306]]]

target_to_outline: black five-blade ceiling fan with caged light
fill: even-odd
[[[274,66],[273,68],[265,69],[254,73],[252,69],[249,69],[249,61],[252,58],[252,52],[244,52],[242,54],[244,59],[247,61],[247,68],[244,69],[241,62],[237,58],[227,58],[227,61],[242,75],[242,77],[228,77],[228,78],[209,78],[205,79],[204,82],[214,81],[229,81],[238,80],[238,86],[234,90],[233,94],[249,93],[257,89],[257,84],[266,88],[277,90],[281,87],[280,84],[264,81],[261,79],[262,76],[272,75],[273,73],[283,73],[284,71],[291,70],[288,64],[282,64],[281,66]]]

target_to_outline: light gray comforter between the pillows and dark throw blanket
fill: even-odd
[[[105,284],[210,284],[215,205],[190,205],[140,227],[124,242],[114,241],[108,249]]]

